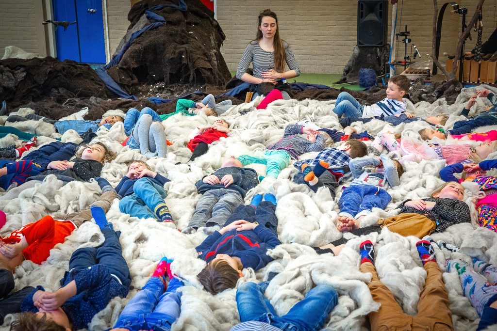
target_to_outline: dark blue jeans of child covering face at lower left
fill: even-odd
[[[98,247],[83,247],[77,249],[69,260],[69,270],[87,268],[92,265],[105,265],[109,272],[115,275],[123,286],[129,287],[131,276],[129,267],[122,256],[121,243],[119,242],[120,231],[102,229],[105,240]],[[61,279],[61,285],[67,285],[71,281],[69,272]]]

